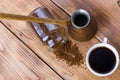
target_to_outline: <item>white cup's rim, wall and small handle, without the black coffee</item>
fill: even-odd
[[[95,69],[93,69],[93,68],[91,67],[91,65],[90,65],[91,63],[90,63],[90,61],[89,61],[90,55],[91,55],[92,51],[95,50],[96,48],[100,48],[100,47],[105,47],[105,48],[111,50],[112,53],[113,53],[114,56],[115,56],[115,59],[116,59],[116,60],[115,60],[114,67],[113,67],[111,70],[109,70],[108,72],[106,72],[106,73],[101,73],[101,72],[98,72],[98,71],[96,71]],[[101,60],[102,60],[102,59],[101,59]],[[112,45],[110,45],[110,44],[107,43],[107,38],[105,37],[105,38],[104,38],[104,41],[103,41],[102,43],[95,44],[94,46],[92,46],[92,47],[88,50],[87,56],[86,56],[86,65],[87,65],[87,68],[88,68],[93,74],[95,74],[95,75],[97,75],[97,76],[109,76],[109,75],[111,75],[112,73],[114,73],[114,72],[116,71],[116,69],[118,68],[118,65],[119,65],[119,54],[118,54],[117,50],[116,50]],[[93,65],[92,65],[92,66],[93,66]],[[107,65],[106,65],[106,66],[107,66]]]

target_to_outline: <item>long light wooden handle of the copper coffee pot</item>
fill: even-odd
[[[0,18],[21,20],[21,21],[28,21],[28,22],[37,22],[37,23],[59,24],[59,25],[64,25],[64,26],[68,26],[70,24],[69,21],[64,21],[64,20],[50,19],[50,18],[38,18],[38,17],[33,17],[33,16],[24,16],[24,15],[16,15],[16,14],[8,14],[8,13],[0,13]]]

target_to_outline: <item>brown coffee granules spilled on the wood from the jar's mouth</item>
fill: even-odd
[[[53,52],[59,60],[64,60],[69,66],[81,65],[83,56],[76,44],[68,40],[65,44],[58,43],[53,46]]]

